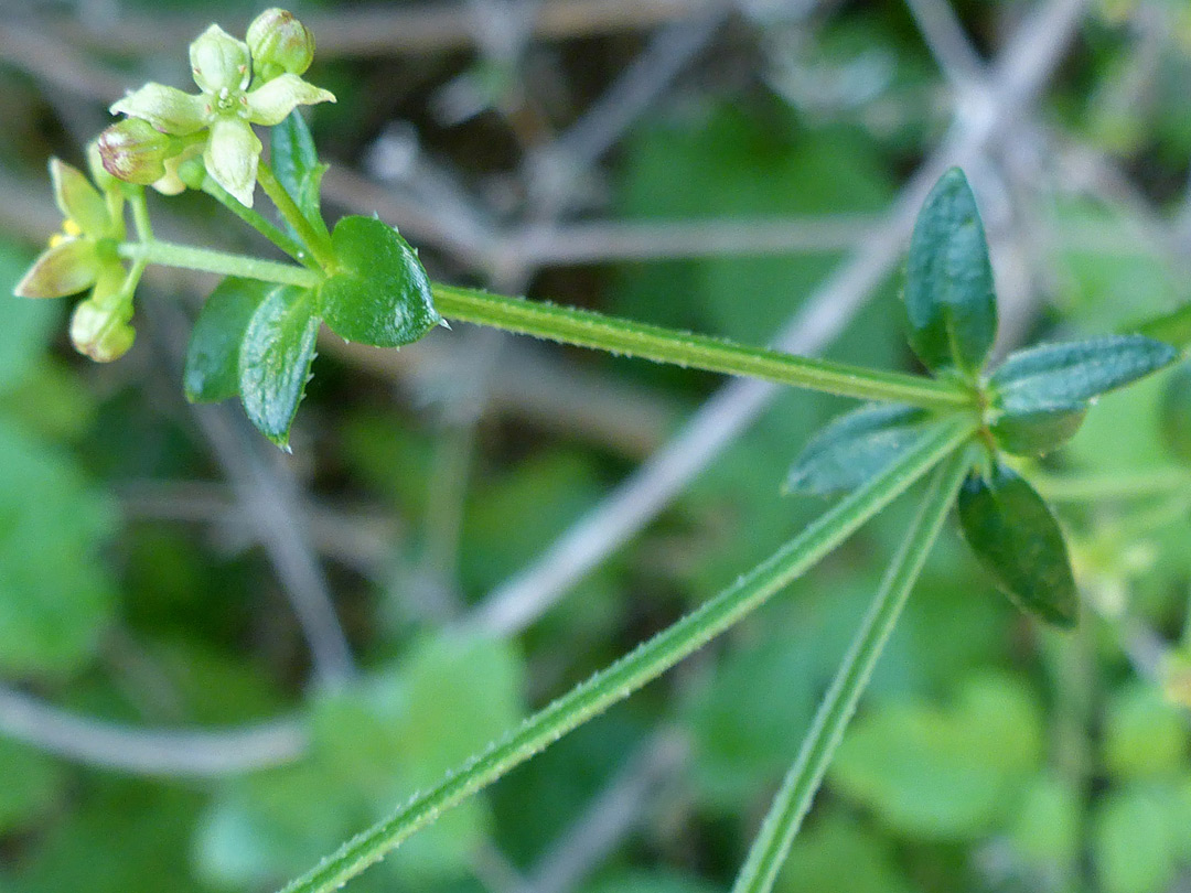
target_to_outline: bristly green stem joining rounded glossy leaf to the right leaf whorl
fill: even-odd
[[[432,288],[435,306],[449,319],[490,325],[565,344],[709,371],[747,375],[862,400],[888,400],[939,408],[974,404],[974,395],[962,386],[935,379],[874,371],[827,360],[749,348],[705,335],[676,332],[591,311],[487,294],[470,288],[441,283],[435,283]]]

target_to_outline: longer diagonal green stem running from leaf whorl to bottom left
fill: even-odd
[[[535,713],[509,737],[490,745],[438,787],[416,795],[392,818],[345,843],[338,853],[288,885],[285,893],[330,893],[338,889],[445,810],[612,704],[628,698],[805,573],[971,437],[973,430],[974,424],[950,419],[924,433],[897,462],[841,500],[752,573]]]

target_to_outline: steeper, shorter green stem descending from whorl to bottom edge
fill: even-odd
[[[803,818],[811,807],[811,800],[823,783],[843,730],[856,711],[856,702],[868,685],[873,667],[897,624],[971,464],[969,451],[956,449],[935,474],[917,517],[881,580],[868,614],[819,705],[798,758],[774,798],[760,833],[753,841],[732,893],[769,893],[773,888]]]

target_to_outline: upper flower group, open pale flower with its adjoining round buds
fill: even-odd
[[[175,194],[179,166],[202,156],[207,174],[252,206],[261,140],[252,125],[280,124],[297,106],[333,102],[303,80],[314,55],[310,31],[283,10],[261,13],[238,40],[218,25],[191,44],[199,93],[146,83],[116,102],[127,115],[99,138],[104,167],[116,177]]]

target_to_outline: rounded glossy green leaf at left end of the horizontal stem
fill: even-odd
[[[418,256],[397,230],[372,217],[345,217],[331,237],[338,271],[323,283],[323,312],[347,341],[397,348],[418,341],[442,317]]]

